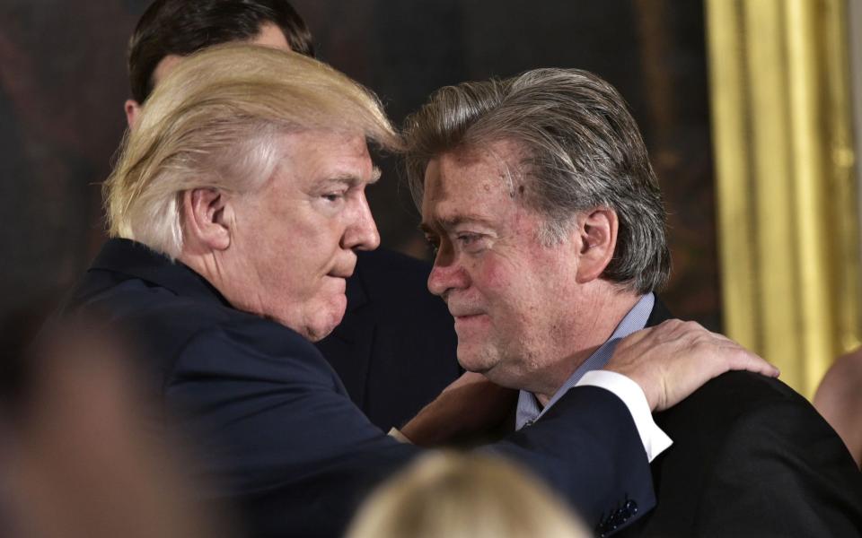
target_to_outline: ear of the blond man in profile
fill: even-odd
[[[233,208],[216,188],[195,188],[182,194],[183,251],[206,254],[231,246]]]

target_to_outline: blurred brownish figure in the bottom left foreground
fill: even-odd
[[[184,448],[152,435],[137,372],[119,346],[75,326],[28,357],[27,382],[6,405],[4,536],[231,536],[189,502]],[[200,484],[196,484],[199,486]]]

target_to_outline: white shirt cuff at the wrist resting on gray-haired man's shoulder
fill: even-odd
[[[647,396],[644,395],[643,389],[629,377],[608,370],[592,370],[586,372],[575,386],[582,385],[598,386],[610,390],[622,400],[623,404],[626,404],[631,418],[635,421],[640,441],[644,444],[644,450],[647,451],[647,458],[650,462],[673,444],[671,438],[667,437],[667,434],[655,425],[653,413],[649,411]]]

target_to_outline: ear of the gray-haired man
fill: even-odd
[[[606,207],[577,217],[577,282],[591,282],[602,275],[617,247],[619,226],[617,213]]]

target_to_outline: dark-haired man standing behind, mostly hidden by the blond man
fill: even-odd
[[[129,128],[184,56],[229,42],[314,56],[311,32],[285,0],[156,0],[129,40]],[[357,252],[344,318],[316,343],[356,406],[383,430],[402,426],[461,375],[452,317],[427,291],[430,270],[426,262],[385,248]],[[466,388],[466,381],[471,384],[464,397],[505,404],[514,396],[476,383],[471,374],[458,386]]]

